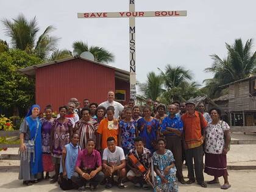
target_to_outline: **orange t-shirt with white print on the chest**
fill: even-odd
[[[97,130],[99,134],[101,134],[101,149],[107,148],[107,138],[113,137],[116,140],[116,144],[118,141],[118,125],[114,125],[113,121],[108,121],[107,118],[102,119],[101,123],[99,123],[99,128]]]

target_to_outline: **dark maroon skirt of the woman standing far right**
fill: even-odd
[[[227,173],[227,156],[223,154],[205,153],[204,172],[210,176],[228,176]]]

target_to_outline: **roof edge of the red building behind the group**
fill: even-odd
[[[38,65],[32,65],[32,66],[28,66],[28,67],[23,68],[23,69],[18,69],[17,71],[22,73],[22,74],[26,74],[27,76],[34,77],[35,76],[35,69],[36,68],[42,68],[44,66],[54,65],[55,63],[62,63],[62,62],[66,62],[66,61],[74,60],[74,59],[82,59],[82,60],[86,60],[88,62],[95,63],[97,65],[102,65],[102,66],[105,66],[107,68],[115,69],[115,76],[117,78],[122,79],[122,77],[123,77],[125,80],[130,80],[130,77],[129,77],[130,73],[129,73],[129,71],[126,71],[126,70],[123,70],[123,69],[119,69],[119,68],[115,68],[113,66],[106,65],[104,63],[95,62],[95,61],[90,60],[90,59],[84,59],[84,58],[79,57],[79,56],[68,57],[68,58],[65,58],[65,59],[55,60],[55,61],[48,62],[48,63],[40,63]]]

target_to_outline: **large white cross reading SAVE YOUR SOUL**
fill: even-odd
[[[129,18],[130,53],[130,98],[136,99],[136,60],[135,60],[135,18],[160,16],[187,16],[186,10],[135,12],[135,0],[129,0],[129,12],[77,13],[78,18]]]

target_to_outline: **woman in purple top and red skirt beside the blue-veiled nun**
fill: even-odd
[[[42,152],[43,152],[43,171],[46,171],[45,180],[50,179],[49,172],[54,171],[54,164],[52,163],[51,150],[50,150],[50,139],[51,139],[51,128],[54,118],[52,118],[51,106],[46,106],[44,109],[46,115],[45,118],[41,118],[41,138],[42,138]]]

